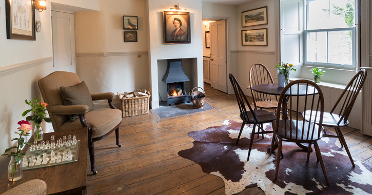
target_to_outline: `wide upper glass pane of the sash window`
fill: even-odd
[[[307,0],[307,30],[355,26],[355,0]]]

